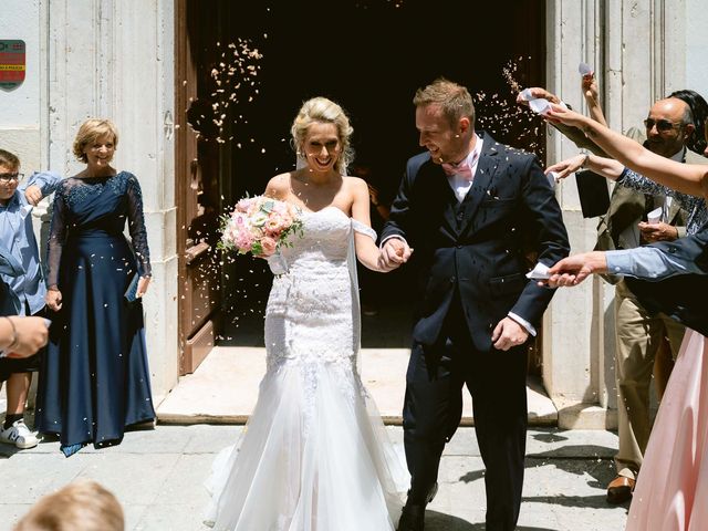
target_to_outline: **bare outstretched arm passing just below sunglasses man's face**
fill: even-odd
[[[611,157],[652,180],[693,196],[708,195],[708,166],[681,164],[656,155],[582,114],[553,105],[546,115],[553,123],[580,127]]]

